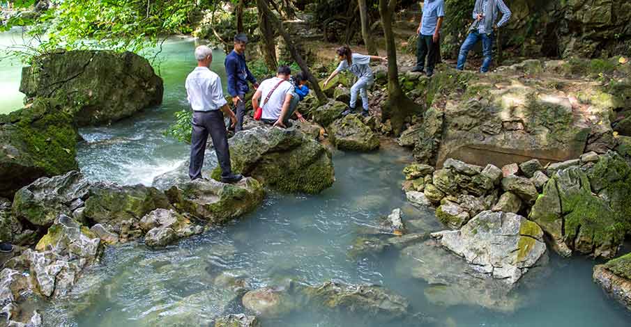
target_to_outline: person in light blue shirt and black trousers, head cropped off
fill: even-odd
[[[425,0],[423,6],[423,16],[418,24],[416,33],[416,67],[412,72],[425,72],[425,57],[427,57],[427,76],[434,74],[434,66],[438,59],[439,39],[441,26],[445,17],[444,0]]]

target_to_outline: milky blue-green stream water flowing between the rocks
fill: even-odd
[[[6,40],[0,34],[0,40]],[[183,81],[194,66],[189,39],[171,40],[160,55],[165,79],[162,106],[109,127],[82,129],[82,171],[92,180],[151,184],[156,175],[186,159],[188,147],[162,136],[186,107]],[[222,72],[223,55],[213,69]],[[19,67],[1,63],[3,81],[15,90]],[[13,72],[13,73],[10,73]],[[13,91],[11,91],[13,92]],[[15,95],[16,99],[20,96]],[[12,103],[3,102],[0,111]],[[19,106],[19,105],[18,105]],[[383,285],[402,294],[413,312],[437,326],[631,326],[631,314],[607,298],[591,280],[593,260],[551,255],[549,273],[533,276],[533,287],[515,292],[524,301],[510,313],[459,303],[430,302],[428,285],[413,278],[410,262],[395,250],[377,256],[349,256],[361,230],[394,208],[418,229],[440,230],[434,212],[411,207],[400,190],[402,168],[413,160],[386,143],[379,152],[333,152],[337,181],[317,196],[269,193],[264,205],[225,228],[185,239],[163,250],[142,243],[107,248],[102,264],[84,273],[67,298],[37,303],[47,326],[198,326],[200,317],[243,312],[232,292],[216,286],[222,272],[243,276],[250,287],[279,285],[291,278],[311,285],[327,280]],[[448,255],[445,253],[444,255]],[[423,258],[415,258],[423,261]],[[457,294],[454,294],[457,296]],[[187,324],[186,321],[190,321]],[[401,322],[370,324],[352,314],[298,308],[264,326],[418,326]]]

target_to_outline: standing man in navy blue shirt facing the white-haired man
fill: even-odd
[[[236,108],[236,126],[234,131],[243,129],[243,117],[245,116],[245,94],[250,91],[248,81],[254,88],[259,87],[257,79],[248,70],[245,63],[245,44],[248,36],[237,34],[234,37],[234,49],[226,56],[225,66],[228,75],[228,93],[232,97],[232,104]]]

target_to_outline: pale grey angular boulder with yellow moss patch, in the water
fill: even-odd
[[[512,213],[482,212],[461,230],[432,234],[478,271],[514,285],[544,255],[543,231]]]

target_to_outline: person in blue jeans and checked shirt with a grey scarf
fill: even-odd
[[[499,13],[502,13],[502,18],[495,24]],[[482,40],[484,61],[482,61],[480,72],[489,71],[493,60],[494,31],[504,26],[510,19],[510,15],[510,9],[502,0],[476,0],[476,6],[473,8],[473,19],[475,21],[469,27],[469,36],[467,36],[464,43],[462,43],[462,47],[460,47],[457,70],[464,70],[464,63],[466,63],[466,56],[469,54],[469,50]]]

